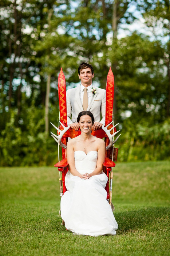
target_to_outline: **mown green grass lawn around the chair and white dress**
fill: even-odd
[[[55,167],[0,168],[0,255],[169,255],[169,162],[116,164],[116,236],[61,225],[58,176]]]

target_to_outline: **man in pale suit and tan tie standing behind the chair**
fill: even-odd
[[[92,128],[94,130],[100,129],[105,124],[106,90],[95,88],[92,84],[92,78],[94,78],[92,65],[82,62],[78,68],[78,76],[81,84],[66,92],[67,124],[78,131],[79,125],[76,122],[78,114],[83,110],[90,110],[95,118]],[[102,113],[101,121],[100,112]]]

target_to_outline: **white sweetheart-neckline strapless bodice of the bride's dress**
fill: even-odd
[[[76,170],[94,170],[96,169],[98,152],[89,151],[86,153],[82,150],[74,152],[75,168]]]

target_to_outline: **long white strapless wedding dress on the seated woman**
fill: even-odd
[[[75,168],[79,173],[91,173],[96,168],[98,152],[86,153],[75,151]],[[61,198],[61,216],[66,229],[74,234],[99,236],[116,234],[118,224],[114,218],[110,204],[106,200],[104,189],[107,183],[105,173],[83,180],[66,174],[65,184],[68,191]]]

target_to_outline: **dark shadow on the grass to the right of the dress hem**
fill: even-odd
[[[154,231],[165,229],[170,224],[170,207],[146,207],[137,211],[115,214],[118,222],[117,234],[132,233],[139,229]]]

